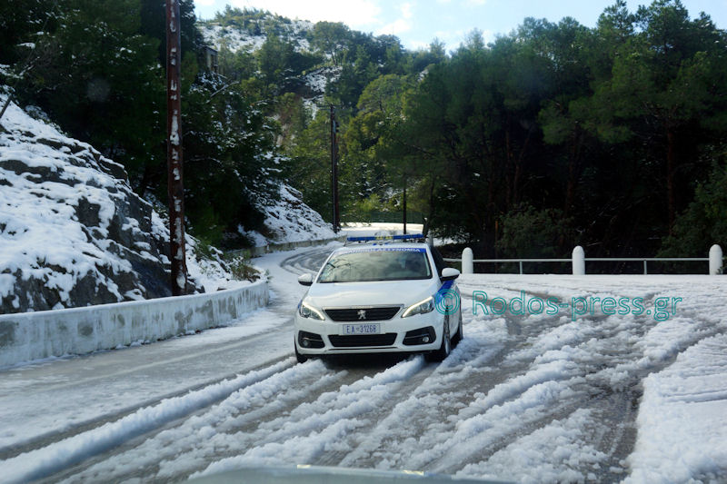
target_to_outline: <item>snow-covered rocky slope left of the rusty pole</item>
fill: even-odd
[[[171,295],[168,230],[123,166],[15,104],[0,124],[0,312]]]

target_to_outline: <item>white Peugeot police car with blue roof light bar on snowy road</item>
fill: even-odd
[[[428,360],[442,361],[463,337],[459,274],[422,234],[349,238],[317,275],[298,278],[310,288],[295,313],[295,356],[302,362],[343,353],[425,352]]]

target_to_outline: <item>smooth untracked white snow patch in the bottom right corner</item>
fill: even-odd
[[[727,335],[682,352],[643,381],[626,482],[718,480],[727,471]]]

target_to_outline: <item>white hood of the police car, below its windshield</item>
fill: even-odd
[[[318,308],[409,306],[439,290],[437,279],[417,281],[315,283],[304,300]]]

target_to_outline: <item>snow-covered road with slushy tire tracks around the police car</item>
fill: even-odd
[[[464,340],[443,363],[294,364],[296,276],[329,250],[262,258],[273,303],[238,325],[1,372],[0,481],[178,481],[291,463],[727,480],[727,279],[463,276]],[[473,304],[482,292],[492,304]],[[548,298],[557,313],[528,304]],[[644,311],[584,310],[595,298],[641,298]],[[665,321],[660,298],[681,298]]]

